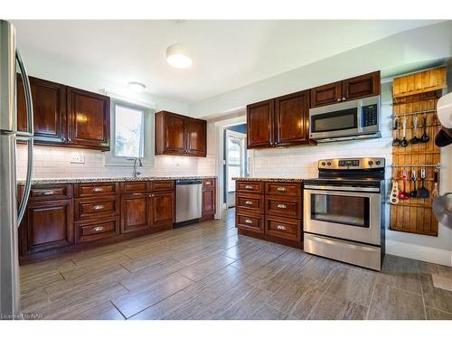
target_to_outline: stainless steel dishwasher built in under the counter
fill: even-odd
[[[198,221],[202,215],[202,180],[175,181],[175,224],[184,226]]]

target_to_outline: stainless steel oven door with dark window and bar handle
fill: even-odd
[[[377,187],[305,186],[304,231],[381,245]]]

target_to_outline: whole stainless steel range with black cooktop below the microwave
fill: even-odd
[[[325,159],[305,180],[305,251],[375,270],[384,255],[384,158]]]

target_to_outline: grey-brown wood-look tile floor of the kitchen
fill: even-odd
[[[432,278],[452,268],[393,256],[356,268],[238,236],[233,210],[20,274],[23,313],[43,319],[452,319],[452,291]]]

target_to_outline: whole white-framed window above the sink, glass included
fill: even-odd
[[[154,112],[118,99],[111,100],[110,151],[105,165],[133,165],[133,159],[143,159],[143,165],[154,165]]]

